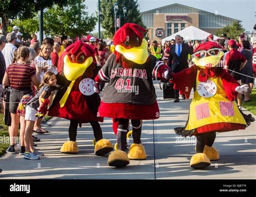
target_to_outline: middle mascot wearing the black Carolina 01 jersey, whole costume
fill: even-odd
[[[159,118],[159,108],[153,86],[154,80],[169,79],[170,70],[163,62],[147,52],[145,29],[126,23],[114,34],[114,54],[107,59],[95,81],[108,82],[98,115],[113,118],[117,135],[117,149],[109,155],[110,166],[122,167],[130,159],[146,159],[146,151],[140,142],[143,119]],[[97,84],[96,83],[96,84]],[[133,144],[129,153],[126,148],[126,133],[132,124]]]

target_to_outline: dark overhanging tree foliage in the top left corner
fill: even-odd
[[[34,13],[44,8],[50,8],[53,4],[65,5],[68,0],[1,0],[0,17],[3,23],[3,34],[7,33],[9,19],[28,19]]]

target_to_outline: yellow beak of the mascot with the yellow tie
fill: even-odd
[[[70,62],[68,55],[65,55],[63,67],[65,78],[69,81],[76,80],[79,76],[84,74],[86,68],[88,68],[92,64],[92,61],[92,57],[89,57],[85,60],[83,64],[76,64]]]

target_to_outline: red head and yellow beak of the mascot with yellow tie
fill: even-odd
[[[69,81],[76,80],[85,73],[87,78],[93,77],[92,57],[95,50],[88,44],[78,40],[66,48],[68,54],[64,57],[63,73]]]

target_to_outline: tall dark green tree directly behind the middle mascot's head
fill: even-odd
[[[127,8],[126,16],[121,17],[121,26],[125,23],[136,23],[146,29],[139,13],[139,5],[136,0],[101,0],[100,12],[102,27],[106,30],[106,37],[112,38],[114,35],[114,2],[118,3],[117,17],[119,13],[124,15],[123,8]]]

